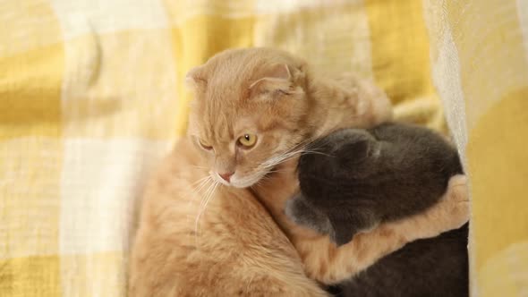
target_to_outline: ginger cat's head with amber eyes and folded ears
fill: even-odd
[[[217,182],[253,185],[305,137],[305,64],[285,52],[228,50],[186,82],[194,92],[188,134]]]

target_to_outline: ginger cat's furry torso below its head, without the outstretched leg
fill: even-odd
[[[304,275],[294,246],[250,191],[219,188],[203,207],[207,189],[196,188],[208,176],[200,168],[205,165],[192,141],[183,139],[153,176],[141,208],[129,295],[326,296]]]

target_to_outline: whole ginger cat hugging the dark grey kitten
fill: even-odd
[[[296,157],[338,128],[389,119],[385,95],[353,77],[317,78],[302,60],[266,48],[218,54],[188,83],[188,136],[145,192],[131,296],[327,296],[315,280],[338,282],[467,221],[467,201],[446,195],[336,248],[284,215],[298,191]]]

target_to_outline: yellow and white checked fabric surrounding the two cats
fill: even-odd
[[[187,70],[280,47],[359,72],[453,132],[473,296],[528,296],[528,2],[0,0],[0,296],[123,296],[146,176],[185,130]]]

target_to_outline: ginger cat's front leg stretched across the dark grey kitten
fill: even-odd
[[[323,284],[337,284],[370,267],[407,242],[430,238],[464,225],[469,219],[469,196],[464,175],[453,176],[447,192],[425,212],[383,223],[369,233],[358,233],[341,247],[328,246],[328,254],[312,251],[312,242],[298,244],[305,270]],[[322,268],[321,266],[324,266]]]

